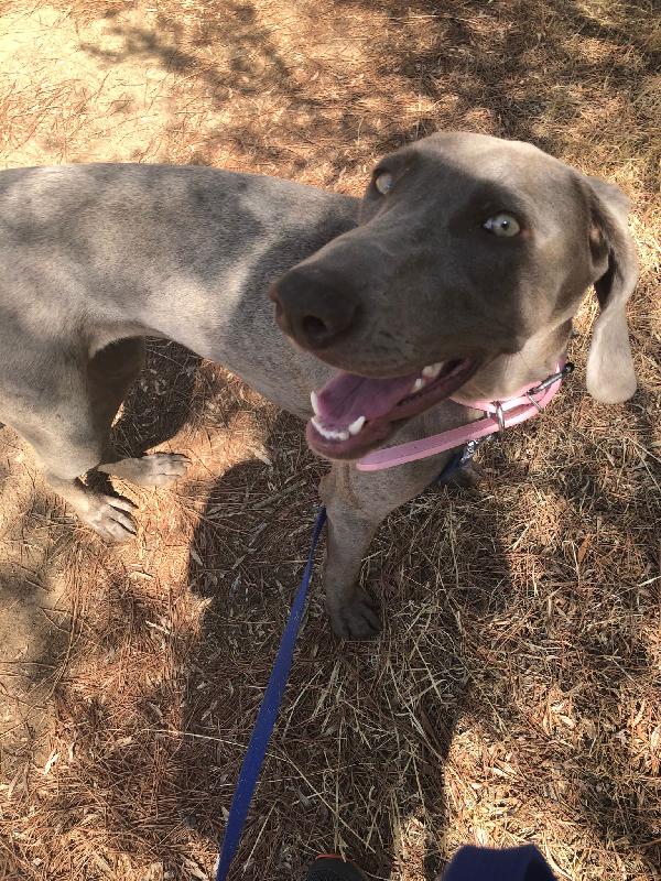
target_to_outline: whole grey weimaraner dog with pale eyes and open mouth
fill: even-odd
[[[362,200],[198,166],[4,171],[0,267],[0,418],[107,539],[133,533],[132,504],[82,475],[162,486],[186,467],[118,459],[109,443],[145,336],[226,365],[304,420],[316,393],[307,439],[333,463],[325,584],[345,638],[379,629],[356,584],[378,524],[448,454],[376,474],[358,457],[476,418],[446,400],[458,389],[500,400],[546,377],[593,283],[588,391],[615,403],[636,390],[627,199],[516,141],[424,138],[377,165]]]

